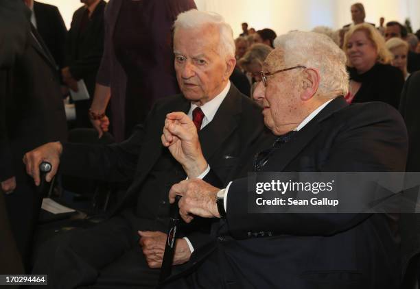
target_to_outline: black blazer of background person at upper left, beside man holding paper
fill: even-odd
[[[53,55],[58,67],[62,68],[67,28],[60,11],[54,5],[34,1],[34,14],[36,29]]]

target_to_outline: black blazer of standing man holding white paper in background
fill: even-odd
[[[82,6],[76,10],[66,40],[65,66],[69,66],[71,75],[75,79],[84,79],[91,97],[93,97],[97,70],[104,53],[105,6],[106,2],[103,0],[97,4],[82,33],[80,33],[80,25],[86,8]]]

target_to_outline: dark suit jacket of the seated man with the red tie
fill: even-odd
[[[187,113],[189,108],[190,101],[182,95],[159,99],[145,125],[137,126],[137,131],[125,142],[104,147],[63,145],[60,169],[67,175],[89,175],[108,181],[132,180],[115,213],[133,207],[137,203],[141,186],[150,176],[154,164],[159,161],[163,151],[167,149],[161,144],[166,114],[175,111]],[[246,147],[253,145],[253,142],[262,137],[263,131],[261,109],[231,85],[213,121],[199,133],[202,151],[220,179],[227,180],[231,177],[233,168],[244,154]],[[148,208],[157,210],[163,201],[166,201],[166,205],[168,203],[167,194],[164,199],[159,199],[159,196],[153,192],[145,194],[147,195],[144,199],[148,200]],[[148,224],[148,220],[137,222],[139,229]],[[201,234],[190,235],[189,238],[194,247],[207,241]]]

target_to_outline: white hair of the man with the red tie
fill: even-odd
[[[178,14],[174,23],[174,32],[177,29],[194,29],[205,25],[217,27],[220,32],[219,50],[226,58],[235,58],[235,42],[231,26],[224,21],[224,18],[215,12],[198,11],[191,9]]]

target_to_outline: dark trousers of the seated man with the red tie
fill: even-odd
[[[89,229],[74,229],[43,244],[33,274],[47,274],[48,288],[155,288],[137,230],[121,216]]]

